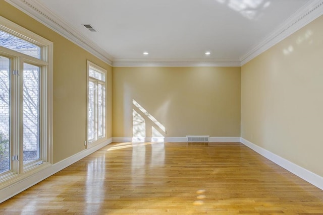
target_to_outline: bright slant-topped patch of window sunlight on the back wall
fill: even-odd
[[[132,100],[132,141],[164,141],[166,128],[136,100]],[[146,139],[150,137],[151,139]]]

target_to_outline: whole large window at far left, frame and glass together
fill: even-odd
[[[51,52],[50,41],[0,17],[0,187],[51,163]]]

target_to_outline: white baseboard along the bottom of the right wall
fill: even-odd
[[[271,160],[272,162],[276,163],[277,165],[283,167],[284,169],[288,170],[289,172],[297,175],[298,177],[304,179],[305,181],[311,183],[312,185],[318,187],[319,189],[323,190],[323,177],[316,175],[315,173],[312,173],[303,167],[300,167],[282,157],[279,157],[278,155],[267,151],[252,142],[244,139],[241,137],[240,141],[245,146],[249,147],[256,153],[262,155],[263,157]]]

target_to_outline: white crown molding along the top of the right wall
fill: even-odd
[[[240,58],[241,65],[246,64],[262,52],[273,47],[297,30],[312,22],[323,14],[323,0],[309,1],[304,7],[290,16],[271,35],[262,40],[245,55]]]

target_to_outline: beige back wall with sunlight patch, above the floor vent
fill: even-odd
[[[138,136],[133,123],[146,137],[240,136],[240,67],[114,67],[113,136]]]

